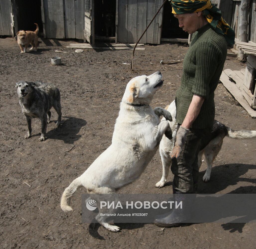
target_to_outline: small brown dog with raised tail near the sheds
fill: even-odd
[[[38,43],[38,25],[35,23],[36,25],[36,30],[35,31],[24,31],[24,30],[20,30],[16,36],[17,36],[17,42],[19,44],[20,53],[26,53],[27,47],[29,44],[31,44],[32,48],[30,48],[30,50],[32,50],[33,48],[35,48],[35,51],[37,50],[37,43]],[[23,49],[23,46],[24,49]]]

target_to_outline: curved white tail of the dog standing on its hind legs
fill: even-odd
[[[60,207],[64,212],[72,211],[73,209],[68,205],[69,198],[77,191],[77,188],[80,187],[81,178],[78,177],[73,180],[73,182],[64,190],[61,200],[60,200]]]

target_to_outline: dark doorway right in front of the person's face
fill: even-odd
[[[188,33],[179,27],[179,21],[172,14],[172,6],[168,1],[164,4],[162,38],[188,39]]]

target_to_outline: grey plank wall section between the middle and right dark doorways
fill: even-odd
[[[119,0],[118,42],[135,43],[162,5],[163,0]],[[163,9],[141,39],[141,43],[160,44]]]

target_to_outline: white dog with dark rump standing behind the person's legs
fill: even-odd
[[[176,131],[177,131],[177,122],[175,119],[176,116],[176,106],[175,102],[173,101],[168,109],[167,109],[170,114],[172,115],[172,121],[168,121],[170,124],[170,127],[173,132],[173,139],[169,140],[165,136],[163,136],[160,146],[159,146],[159,152],[161,155],[162,159],[162,164],[163,164],[163,175],[161,180],[156,183],[156,187],[162,188],[164,187],[165,183],[167,182],[167,177],[169,174],[169,168],[171,165],[171,153],[174,145],[174,141],[176,138]],[[162,118],[161,121],[165,120],[165,118]],[[255,138],[256,137],[256,131],[246,131],[246,130],[238,130],[234,131],[231,128],[225,126],[224,124],[214,121],[212,130],[210,135],[204,139],[201,143],[201,150],[198,154],[198,166],[200,168],[202,164],[202,155],[205,155],[205,161],[207,163],[207,170],[205,172],[205,175],[203,177],[204,182],[208,182],[210,180],[210,175],[211,175],[211,168],[212,168],[212,163],[218,153],[220,152],[223,138],[225,137],[230,137],[234,139],[250,139],[250,138]]]

